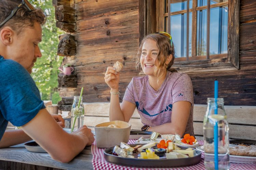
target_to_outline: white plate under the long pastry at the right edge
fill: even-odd
[[[198,151],[204,152],[203,146],[196,147]],[[240,164],[255,164],[256,157],[255,156],[237,156],[237,155],[229,155],[229,161],[232,163],[240,163]]]

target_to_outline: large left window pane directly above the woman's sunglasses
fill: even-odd
[[[189,13],[189,56],[191,56],[192,13]],[[186,57],[187,14],[171,16],[171,36],[176,57]]]

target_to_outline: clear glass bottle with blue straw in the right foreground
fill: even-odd
[[[218,127],[214,141],[214,126]],[[207,98],[207,111],[203,120],[204,166],[215,169],[214,142],[218,142],[218,169],[229,169],[229,127],[223,98]]]

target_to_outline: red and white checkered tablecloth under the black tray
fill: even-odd
[[[134,144],[136,140],[130,139],[128,144]],[[203,145],[202,140],[198,140],[200,145]],[[94,142],[91,146],[91,153],[93,155],[93,168],[96,170],[166,170],[170,168],[133,168],[133,167],[127,167],[127,166],[121,166],[121,165],[115,165],[106,162],[104,159],[104,149],[97,148],[96,143]],[[193,166],[188,167],[181,167],[181,168],[171,168],[173,170],[191,170],[191,169],[205,169],[204,168],[204,153],[202,153],[202,159],[201,161]],[[236,163],[230,163],[230,169],[231,170],[256,170],[256,164],[236,164]]]

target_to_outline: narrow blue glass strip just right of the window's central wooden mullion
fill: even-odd
[[[197,55],[206,55],[206,39],[207,10],[197,11]]]

